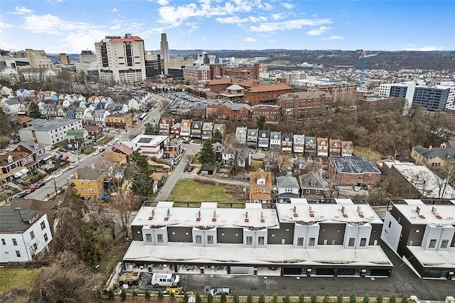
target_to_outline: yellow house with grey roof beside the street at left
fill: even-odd
[[[73,179],[70,179],[70,184],[74,184],[74,189],[81,197],[92,198],[97,200],[102,198],[105,193],[105,178],[107,171],[99,171],[92,167],[77,169],[74,172]]]

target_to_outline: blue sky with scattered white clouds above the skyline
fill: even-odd
[[[455,1],[2,0],[0,48],[80,53],[132,33],[169,48],[455,50]]]

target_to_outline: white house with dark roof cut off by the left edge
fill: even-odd
[[[0,263],[28,262],[48,249],[52,241],[48,215],[43,211],[0,207]]]

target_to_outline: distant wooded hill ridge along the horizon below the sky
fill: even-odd
[[[333,67],[336,65],[352,65],[360,68],[361,60],[359,53],[355,50],[169,50],[171,56],[192,55],[197,57],[205,51],[209,55],[216,55],[220,58],[254,58],[266,57],[264,63],[269,65],[299,65],[311,63]],[[159,50],[152,50],[153,53],[160,53]],[[368,53],[377,53],[375,57],[367,59],[368,69],[402,70],[451,70],[455,71],[455,50],[446,51],[384,51],[372,50]],[[78,60],[79,54],[68,54],[70,60]],[[58,62],[58,54],[49,54],[53,62]]]

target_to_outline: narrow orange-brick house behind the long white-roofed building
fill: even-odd
[[[272,203],[272,173],[270,171],[250,172],[250,202],[270,206]]]

